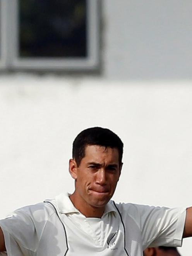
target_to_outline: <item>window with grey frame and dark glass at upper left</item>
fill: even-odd
[[[0,1],[1,42],[5,38],[0,54],[4,52],[8,69],[86,70],[98,66],[98,0]],[[2,17],[5,12],[9,19]]]

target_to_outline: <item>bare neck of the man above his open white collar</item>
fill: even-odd
[[[85,201],[82,202],[81,199],[75,196],[75,192],[70,195],[69,198],[74,204],[75,208],[79,210],[84,216],[86,216],[86,218],[101,218],[105,211],[105,206],[94,207],[87,204]]]

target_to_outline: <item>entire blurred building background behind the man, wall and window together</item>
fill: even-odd
[[[189,0],[0,0],[0,218],[73,192],[72,141],[92,126],[125,144],[114,200],[192,205],[191,13]]]

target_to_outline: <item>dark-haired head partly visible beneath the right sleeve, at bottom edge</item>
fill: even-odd
[[[144,256],[181,256],[176,247],[159,246],[158,248],[147,248]]]

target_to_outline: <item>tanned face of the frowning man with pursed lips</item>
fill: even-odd
[[[117,148],[86,146],[79,167],[71,172],[79,204],[105,207],[115,192],[120,172]]]

